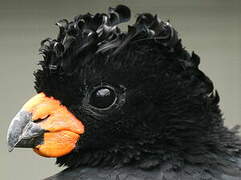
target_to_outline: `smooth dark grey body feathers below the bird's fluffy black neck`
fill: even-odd
[[[240,161],[241,162],[241,161]],[[240,170],[240,169],[239,169]],[[168,167],[143,171],[133,168],[76,168],[67,169],[45,180],[240,180],[241,173],[223,175],[219,172],[210,174],[205,168],[187,166],[182,171]]]

